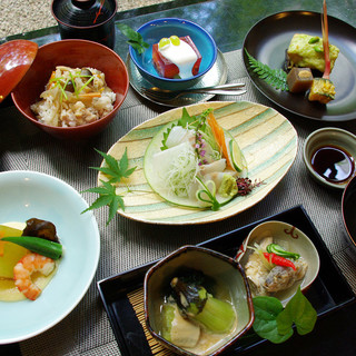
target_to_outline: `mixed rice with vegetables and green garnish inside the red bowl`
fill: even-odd
[[[56,67],[40,101],[31,106],[38,120],[56,127],[76,127],[99,120],[113,109],[116,93],[105,73],[95,68]]]

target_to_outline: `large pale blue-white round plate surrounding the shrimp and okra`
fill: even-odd
[[[81,300],[97,270],[100,235],[77,190],[34,171],[0,174],[1,222],[36,217],[53,222],[63,245],[57,274],[34,301],[0,301],[0,344],[33,337],[63,319]]]

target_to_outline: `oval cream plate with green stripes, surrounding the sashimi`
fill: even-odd
[[[297,132],[275,109],[248,101],[204,102],[186,108],[190,115],[212,108],[218,122],[236,138],[244,151],[248,177],[264,184],[245,197],[236,197],[218,211],[178,207],[160,198],[145,178],[144,156],[150,140],[162,126],[181,117],[182,108],[177,108],[137,126],[108,151],[120,159],[127,148],[129,165],[137,166],[135,172],[117,187],[117,191],[125,195],[125,211],[119,209],[118,214],[138,221],[164,225],[222,220],[264,199],[291,167],[297,154]],[[107,180],[101,172],[98,181],[100,179]]]

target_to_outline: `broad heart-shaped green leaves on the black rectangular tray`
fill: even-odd
[[[258,296],[254,298],[255,333],[274,344],[286,342],[293,334],[293,325],[299,335],[314,329],[317,313],[310,301],[303,295],[300,287],[284,308],[275,297]]]

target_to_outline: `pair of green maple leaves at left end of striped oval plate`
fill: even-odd
[[[81,214],[98,209],[103,206],[109,206],[109,217],[107,220],[107,225],[113,219],[116,212],[119,208],[125,210],[125,202],[122,196],[118,195],[116,191],[116,184],[120,182],[122,178],[128,178],[137,167],[129,168],[128,157],[127,157],[127,148],[121,157],[121,159],[116,160],[112,156],[101,152],[96,149],[96,151],[101,155],[105,159],[105,165],[102,167],[90,167],[91,169],[96,169],[105,174],[109,177],[108,181],[101,180],[102,186],[89,188],[83,190],[82,192],[96,192],[99,194],[100,197],[95,200],[89,208],[83,210]]]

